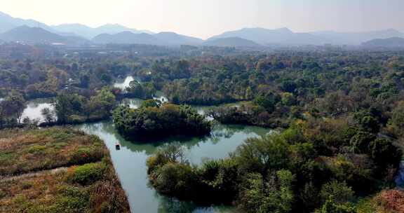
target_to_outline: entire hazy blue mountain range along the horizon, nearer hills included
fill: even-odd
[[[13,18],[0,12],[0,40],[26,43],[64,43],[80,45],[86,43],[139,43],[162,46],[266,46],[276,45],[361,45],[372,39],[403,38],[396,29],[373,32],[292,32],[288,28],[264,29],[244,28],[224,32],[206,41],[174,32],[154,34],[122,25],[88,27],[80,24],[48,26],[35,20]]]

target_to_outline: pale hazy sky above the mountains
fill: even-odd
[[[404,31],[404,0],[0,0],[0,5],[13,17],[48,25],[118,23],[203,39],[243,27]]]

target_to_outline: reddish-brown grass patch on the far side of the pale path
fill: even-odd
[[[0,176],[90,163],[105,156],[97,137],[71,128],[0,132]]]

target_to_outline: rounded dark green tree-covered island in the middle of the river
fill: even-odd
[[[212,128],[211,122],[192,107],[160,104],[154,99],[143,102],[139,109],[117,107],[113,118],[116,130],[126,139],[203,136],[208,135]]]

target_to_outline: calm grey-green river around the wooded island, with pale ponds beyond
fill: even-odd
[[[127,82],[127,81],[126,81]],[[161,95],[159,98],[163,97]],[[141,99],[124,99],[121,104],[129,104],[137,108]],[[29,118],[41,118],[41,109],[50,107],[48,99],[29,102],[24,115]],[[195,107],[198,113],[205,114],[210,107]],[[187,158],[194,165],[199,165],[208,158],[226,158],[231,151],[243,143],[248,137],[259,137],[269,134],[269,129],[244,125],[215,125],[213,132],[207,137],[171,137],[155,142],[129,142],[123,139],[114,129],[112,121],[86,123],[76,125],[76,128],[97,135],[109,149],[112,162],[123,188],[128,195],[132,212],[235,212],[232,207],[196,206],[192,202],[178,201],[159,195],[147,179],[146,160],[160,146],[170,142],[180,142],[186,147]],[[119,142],[121,149],[116,150]]]

